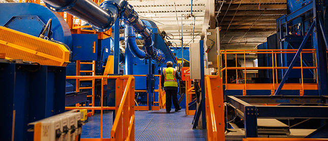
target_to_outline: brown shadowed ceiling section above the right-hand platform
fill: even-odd
[[[286,0],[216,2],[216,26],[221,27],[221,49],[256,48],[266,42],[266,37],[276,33],[276,19],[286,13]]]

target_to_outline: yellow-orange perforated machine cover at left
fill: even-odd
[[[21,59],[41,65],[67,66],[70,51],[62,44],[0,26],[0,53],[6,59]]]

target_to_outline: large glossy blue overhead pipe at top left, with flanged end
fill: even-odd
[[[91,0],[44,0],[43,2],[55,12],[66,11],[90,23],[97,32],[109,30],[127,5],[127,0],[104,1],[100,7]]]

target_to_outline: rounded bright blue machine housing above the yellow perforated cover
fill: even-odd
[[[33,3],[2,3],[0,15],[1,26],[36,37],[39,37],[48,20],[52,19],[52,38],[72,47],[71,30],[66,21],[44,6]]]

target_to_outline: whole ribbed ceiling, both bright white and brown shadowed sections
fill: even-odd
[[[0,0],[0,3],[18,1]],[[276,33],[276,19],[287,13],[286,0],[193,0],[192,17],[191,0],[128,0],[140,18],[153,20],[160,31],[172,34],[174,39],[168,41],[177,47],[181,47],[182,34],[184,46],[201,39],[203,25],[205,29],[208,27],[204,22],[206,3],[211,2],[215,3],[215,21],[210,23],[221,27],[221,49],[256,48]]]

